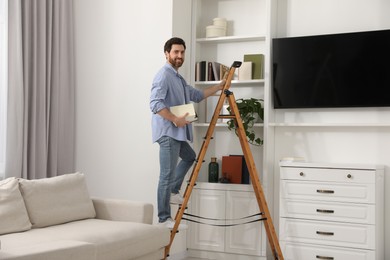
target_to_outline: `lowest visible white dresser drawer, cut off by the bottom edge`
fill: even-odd
[[[374,260],[375,252],[307,244],[280,243],[285,260]]]

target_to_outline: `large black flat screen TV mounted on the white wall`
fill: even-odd
[[[390,30],[272,44],[274,108],[390,107]]]

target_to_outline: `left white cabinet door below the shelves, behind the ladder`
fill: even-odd
[[[189,212],[205,218],[225,219],[225,191],[194,189],[191,194]],[[210,224],[221,224],[220,221],[202,219],[200,221],[207,221]],[[189,222],[189,224],[189,232],[187,232],[188,248],[224,251],[225,229],[223,227],[192,222]]]

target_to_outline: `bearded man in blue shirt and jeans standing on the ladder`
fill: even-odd
[[[153,142],[160,145],[160,177],[157,190],[159,223],[173,228],[170,204],[183,203],[179,194],[183,179],[195,161],[196,154],[189,145],[192,142],[192,125],[186,116],[175,116],[169,110],[172,106],[200,102],[221,90],[220,84],[196,89],[187,84],[178,73],[185,59],[186,45],[181,38],[171,38],[164,45],[166,64],[154,77],[150,109],[152,111]],[[180,162],[179,158],[181,159]],[[179,228],[185,228],[180,225]]]

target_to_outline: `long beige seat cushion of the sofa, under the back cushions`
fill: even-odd
[[[96,246],[96,259],[134,259],[168,245],[170,230],[135,222],[85,219],[1,237],[4,250],[57,240]],[[163,255],[161,256],[163,258]],[[154,258],[154,259],[161,259]]]

